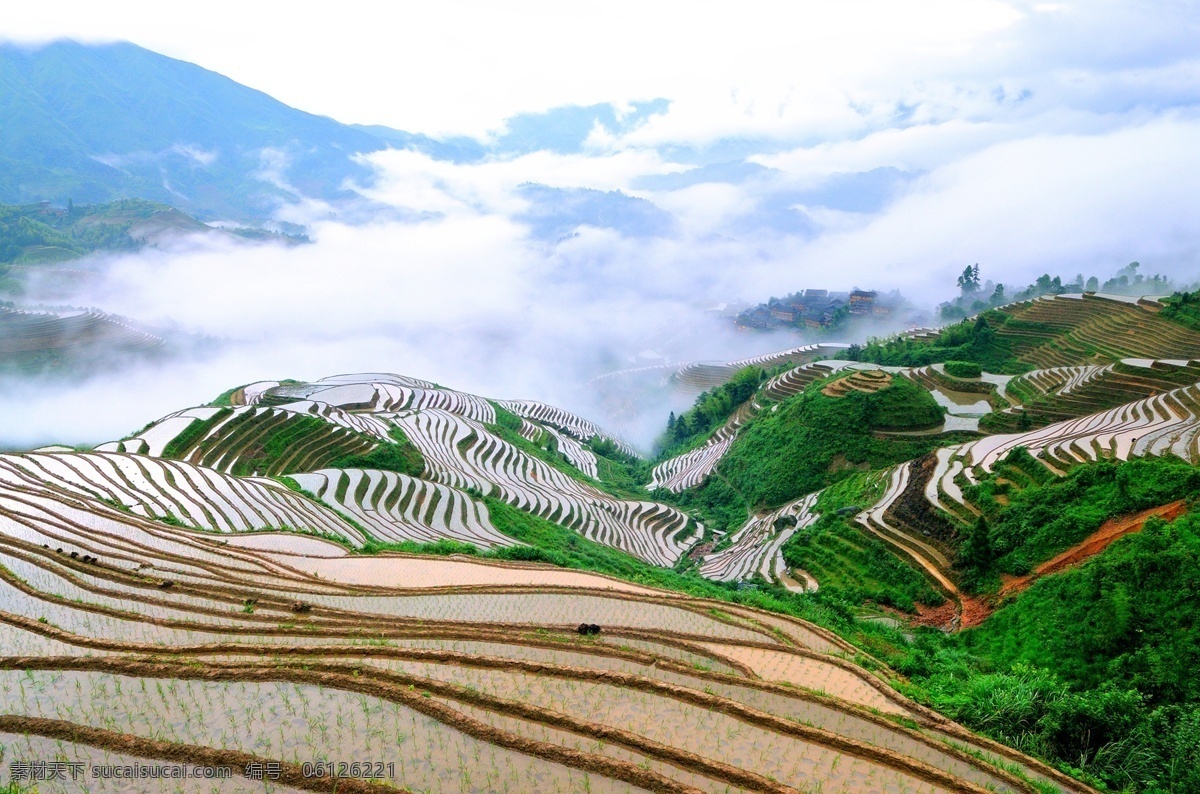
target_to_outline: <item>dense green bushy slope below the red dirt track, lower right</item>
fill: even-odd
[[[1196,792],[1198,583],[1200,517],[1151,519],[896,662],[947,716],[1110,790]]]

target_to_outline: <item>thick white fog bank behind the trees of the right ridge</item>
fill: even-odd
[[[982,263],[988,277],[1108,276],[1139,259],[1182,279],[1198,272],[1200,122],[1164,119],[1099,136],[1038,136],[935,169],[868,225],[818,239],[805,261],[947,291]]]

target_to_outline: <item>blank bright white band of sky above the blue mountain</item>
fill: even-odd
[[[695,132],[710,134],[744,131],[748,118],[769,122],[780,108],[803,118],[814,96],[836,102],[836,91],[810,91],[820,83],[857,83],[901,59],[920,67],[962,58],[1020,18],[994,0],[757,0],[736,10],[352,0],[293,11],[212,0],[193,14],[64,0],[53,13],[6,8],[0,36],[127,38],[307,110],[430,133],[481,134],[521,112],[667,96],[680,100],[682,119],[695,119],[689,107],[698,103],[704,124]],[[710,103],[731,92],[739,100]]]

